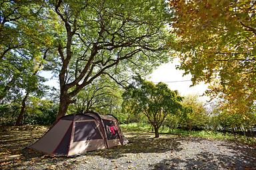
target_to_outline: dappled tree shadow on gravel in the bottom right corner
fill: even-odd
[[[215,154],[207,151],[201,152],[193,158],[179,159],[174,157],[164,159],[151,165],[151,169],[256,169],[256,149],[247,145],[223,145],[234,155]],[[182,168],[181,168],[182,167]]]

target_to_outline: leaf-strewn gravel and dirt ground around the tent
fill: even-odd
[[[127,132],[125,146],[52,157],[26,149],[47,128],[0,128],[0,169],[256,169],[256,148],[231,141]]]

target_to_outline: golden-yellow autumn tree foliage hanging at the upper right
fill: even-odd
[[[169,1],[180,69],[193,84],[210,84],[209,96],[248,112],[255,93],[255,1]]]

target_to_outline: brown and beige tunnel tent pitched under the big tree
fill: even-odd
[[[95,112],[63,116],[30,148],[51,155],[77,155],[85,151],[124,145],[118,121]]]

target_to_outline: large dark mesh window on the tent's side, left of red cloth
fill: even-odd
[[[73,141],[103,139],[95,122],[76,122]]]

